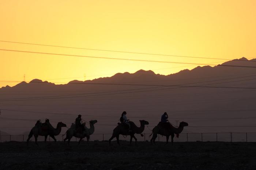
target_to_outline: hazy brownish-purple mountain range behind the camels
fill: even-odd
[[[256,59],[222,65],[256,67]],[[34,79],[0,88],[0,130],[22,134],[35,120],[45,118],[53,126],[62,121],[69,127],[82,114],[86,121],[98,120],[95,133],[111,133],[123,111],[137,125],[138,120],[147,120],[152,129],[166,111],[171,123],[189,123],[184,132],[255,132],[253,127],[199,127],[256,125],[255,85],[256,68],[226,66],[196,67],[167,76],[139,70],[61,85]]]

